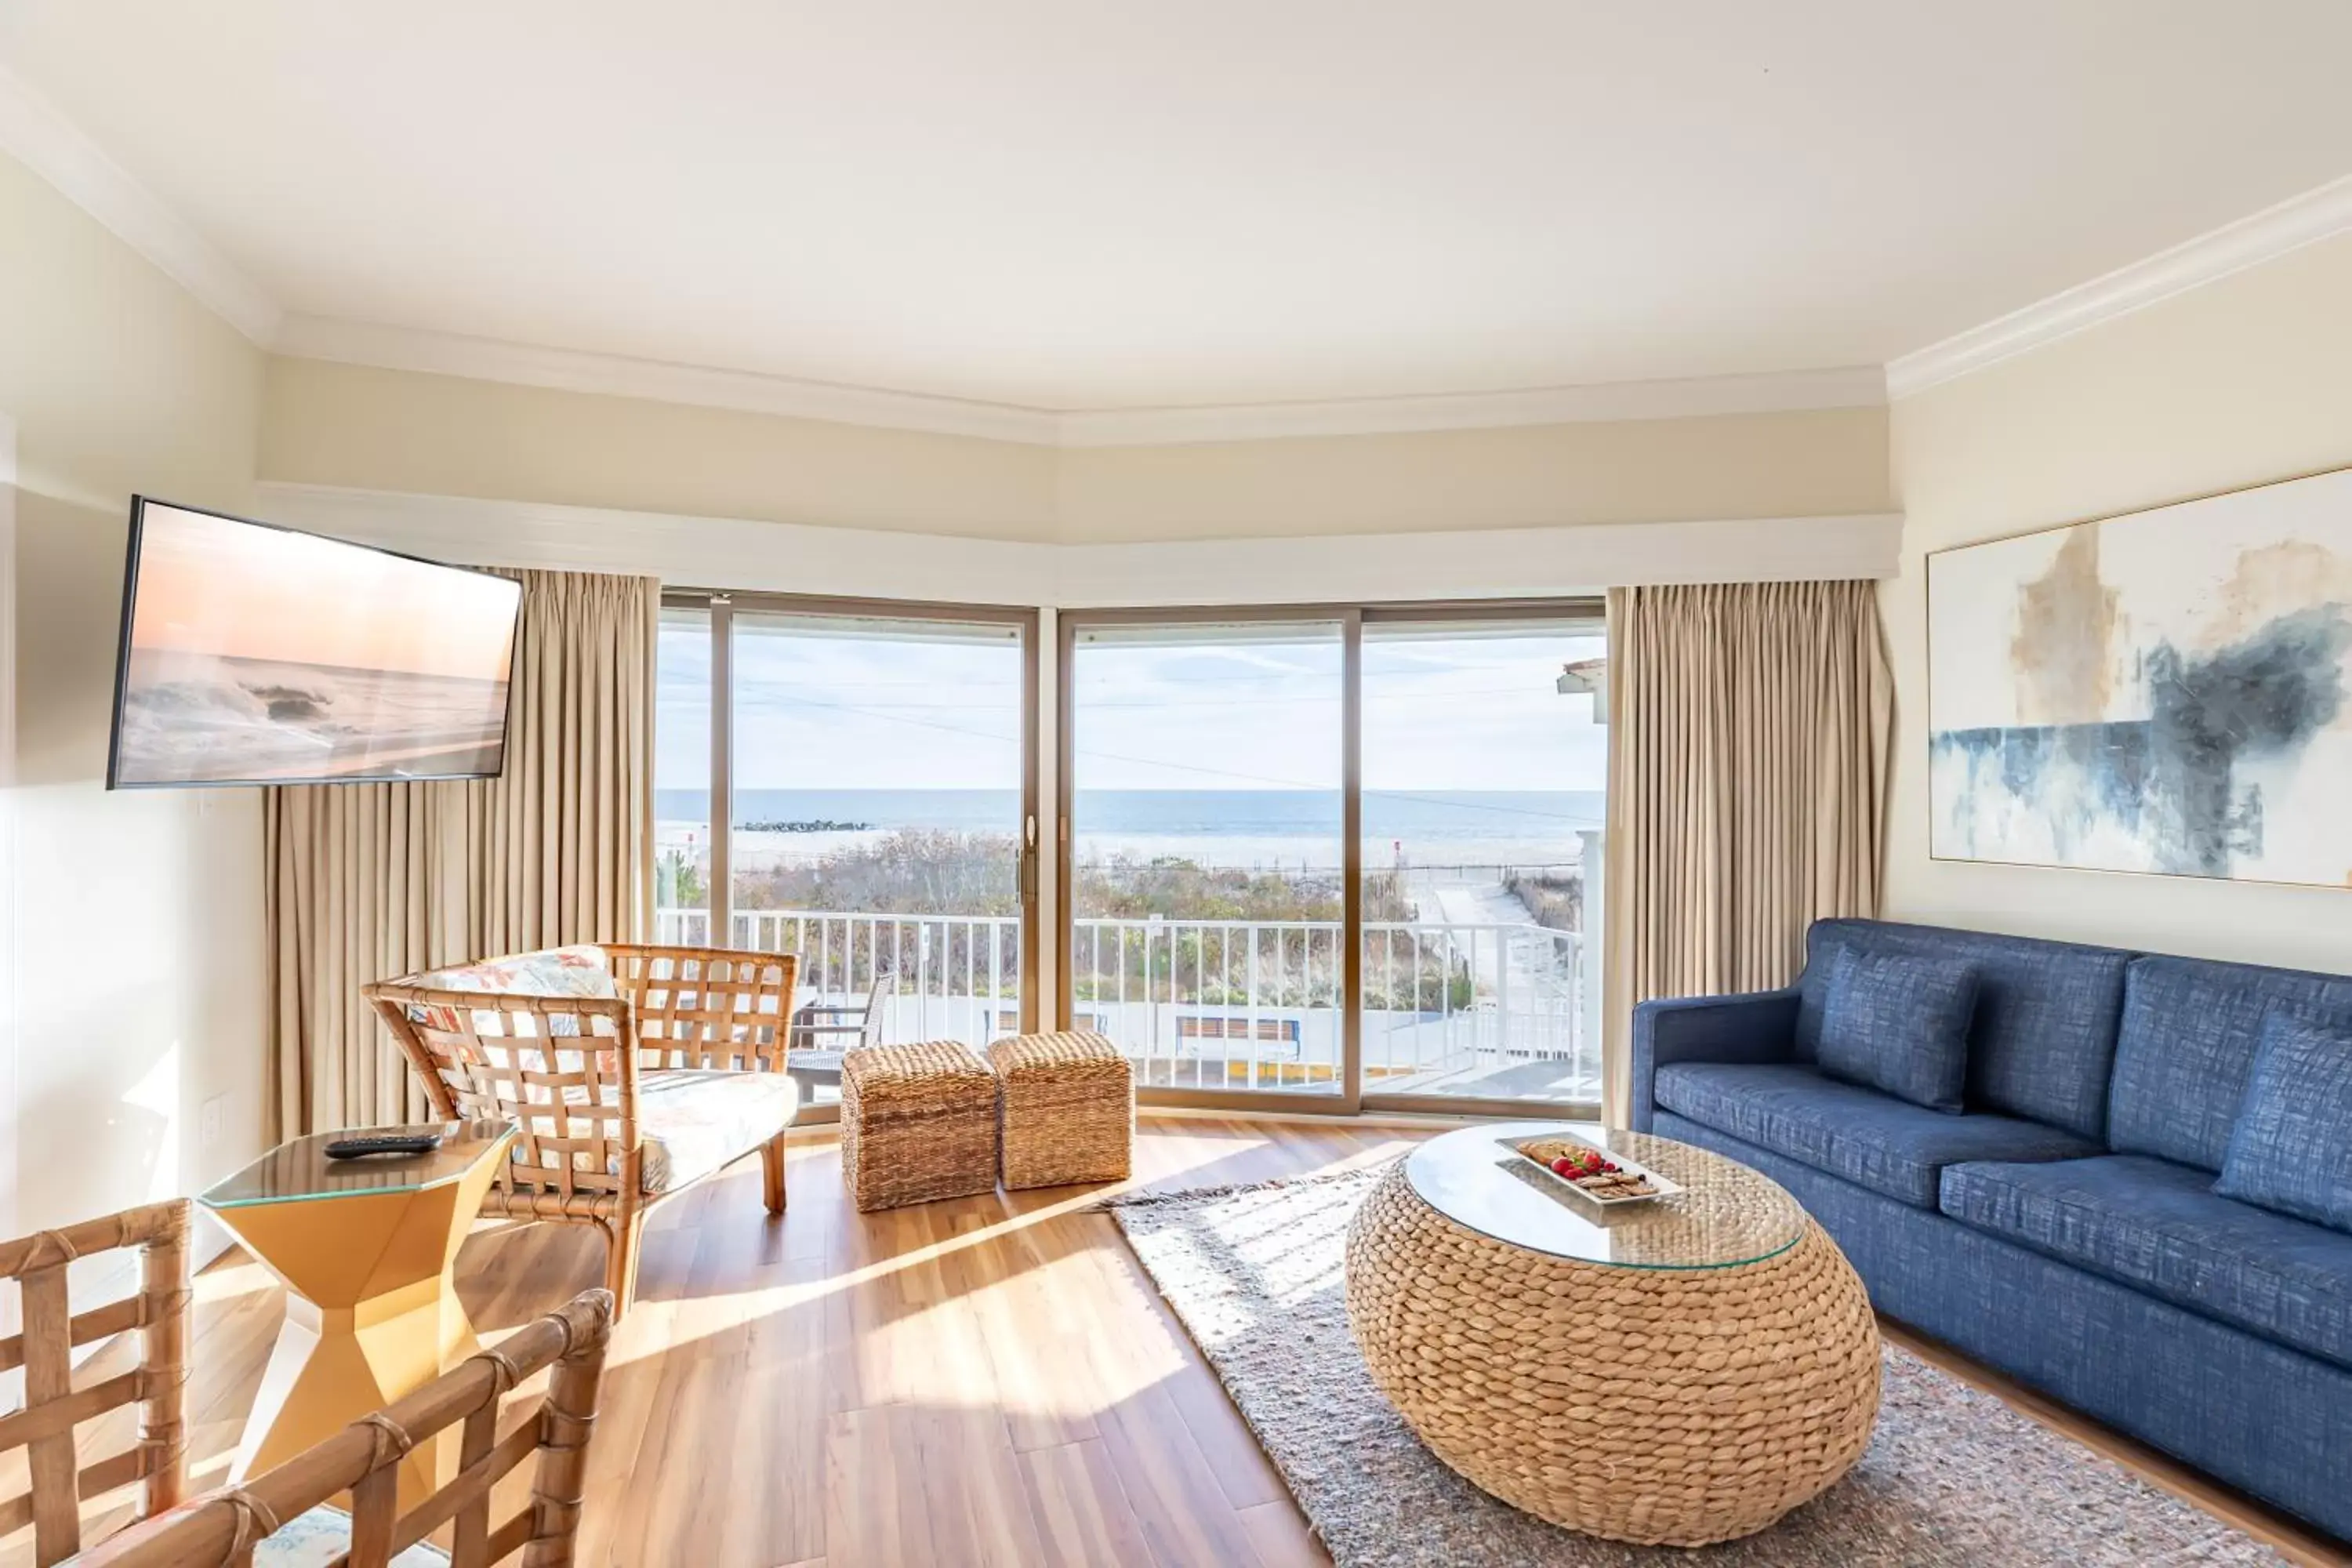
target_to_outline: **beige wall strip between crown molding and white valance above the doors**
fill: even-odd
[[[1063,543],[1889,510],[1884,409],[1056,451],[318,360],[261,477]]]

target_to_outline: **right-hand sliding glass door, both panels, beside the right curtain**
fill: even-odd
[[[1068,611],[1063,1016],[1148,1098],[1597,1112],[1599,607]]]

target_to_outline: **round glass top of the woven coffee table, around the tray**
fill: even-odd
[[[1503,1147],[1536,1135],[1576,1138],[1630,1159],[1682,1192],[1602,1208]],[[1421,1201],[1484,1237],[1531,1253],[1628,1269],[1729,1269],[1797,1246],[1804,1211],[1748,1166],[1672,1138],[1592,1121],[1489,1121],[1423,1143],[1404,1161]]]

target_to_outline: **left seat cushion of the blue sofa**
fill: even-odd
[[[1936,1175],[1947,1164],[2098,1152],[2053,1126],[1947,1117],[1797,1063],[1661,1067],[1658,1105],[1919,1208],[1936,1206]]]

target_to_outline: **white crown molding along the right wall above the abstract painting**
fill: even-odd
[[[2286,252],[2352,228],[2352,176],[2305,190],[2277,207],[2122,266],[2105,277],[2060,289],[1940,343],[1886,362],[1886,395],[1910,397],[2058,339],[2145,310],[2157,301],[2277,261]]]

